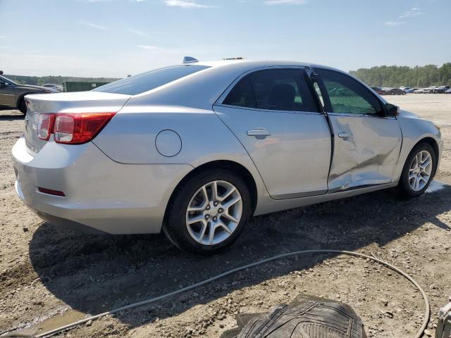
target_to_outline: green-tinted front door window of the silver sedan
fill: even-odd
[[[330,98],[333,113],[377,114],[381,103],[366,87],[352,77],[318,68]]]

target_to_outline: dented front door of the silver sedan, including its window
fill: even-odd
[[[334,134],[329,192],[393,182],[402,144],[397,119],[383,117],[381,100],[350,75],[315,72]]]

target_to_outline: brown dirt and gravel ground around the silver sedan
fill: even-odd
[[[39,333],[185,287],[261,258],[303,249],[378,256],[412,275],[431,301],[427,335],[451,295],[451,95],[387,96],[442,127],[445,153],[429,192],[399,201],[376,192],[259,216],[225,253],[181,253],[163,235],[93,236],[43,223],[14,192],[10,151],[23,130],[0,111],[0,332]],[[413,337],[424,311],[409,282],[347,256],[290,258],[223,278],[149,306],[124,311],[61,337],[218,337],[237,313],[267,311],[299,293],[348,303],[369,337]]]

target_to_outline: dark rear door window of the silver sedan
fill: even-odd
[[[316,111],[302,70],[259,70],[240,80],[223,104],[272,111]]]

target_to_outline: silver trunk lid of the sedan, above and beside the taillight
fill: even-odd
[[[25,143],[30,154],[39,152],[48,142],[37,137],[37,121],[41,113],[106,113],[117,112],[130,95],[103,92],[31,94],[25,96]],[[50,137],[50,140],[52,137]]]

